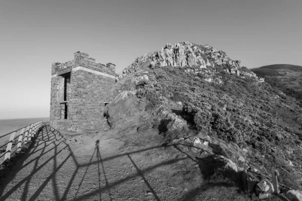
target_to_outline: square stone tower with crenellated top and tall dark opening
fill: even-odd
[[[52,63],[50,126],[58,130],[96,129],[113,99],[115,65],[97,63],[84,52]]]

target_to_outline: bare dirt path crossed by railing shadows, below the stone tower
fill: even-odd
[[[224,180],[205,181],[197,161],[176,147],[64,139],[49,126],[13,163],[1,172],[0,200],[251,200]]]

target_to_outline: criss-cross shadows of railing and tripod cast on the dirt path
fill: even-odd
[[[47,150],[47,147],[50,146],[50,144],[47,144],[47,142],[51,142],[51,140],[55,139],[56,141],[53,141],[50,144],[53,144],[54,147],[50,148],[49,150]],[[132,157],[130,156],[131,154],[135,154],[135,153],[141,153],[147,150],[151,150],[151,149],[158,149],[163,147],[162,145],[160,146],[154,146],[154,147],[149,147],[149,148],[145,148],[145,149],[140,149],[140,150],[136,150],[136,151],[132,151],[132,152],[127,152],[127,153],[122,153],[122,154],[117,154],[114,156],[109,156],[107,158],[102,158],[101,157],[101,152],[100,152],[100,148],[99,148],[99,140],[96,141],[96,145],[95,145],[95,150],[90,158],[90,161],[88,163],[84,163],[84,164],[79,164],[79,162],[77,161],[76,157],[74,156],[71,148],[69,147],[69,145],[62,140],[61,142],[57,142],[58,140],[62,139],[63,137],[61,136],[61,134],[59,133],[59,131],[55,130],[54,128],[50,127],[50,126],[44,126],[42,131],[39,132],[39,134],[37,135],[36,139],[34,139],[32,146],[26,151],[26,153],[22,154],[22,156],[20,156],[18,163],[15,164],[14,166],[12,166],[11,169],[9,170],[5,170],[5,172],[0,172],[0,175],[2,175],[3,173],[5,173],[7,175],[6,177],[6,183],[1,184],[0,186],[0,200],[6,200],[7,198],[9,198],[15,191],[18,191],[18,189],[24,185],[23,187],[23,192],[22,192],[22,197],[21,200],[36,200],[38,198],[38,196],[40,195],[40,193],[43,191],[43,189],[45,188],[45,186],[52,181],[52,187],[53,187],[53,194],[55,196],[54,200],[66,200],[68,192],[70,191],[70,188],[74,182],[75,177],[78,175],[79,176],[79,169],[80,168],[86,168],[84,175],[81,176],[82,179],[80,179],[80,184],[77,185],[78,189],[76,190],[77,192],[75,193],[74,197],[70,200],[84,200],[87,199],[89,197],[92,196],[99,196],[99,199],[101,200],[102,197],[102,193],[106,192],[107,194],[109,194],[109,199],[112,200],[112,194],[110,192],[110,189],[112,187],[115,187],[118,184],[121,184],[122,182],[126,182],[128,180],[134,179],[136,177],[141,177],[142,180],[144,181],[145,185],[149,188],[149,191],[153,193],[154,197],[156,200],[161,200],[160,197],[158,196],[158,194],[156,193],[156,191],[152,188],[152,186],[150,185],[150,183],[148,182],[148,180],[145,178],[144,174],[151,172],[153,170],[155,170],[156,168],[160,167],[160,166],[164,166],[164,165],[170,165],[170,164],[174,164],[178,161],[182,161],[182,160],[193,160],[194,162],[198,163],[197,160],[193,159],[192,157],[190,157],[188,154],[186,154],[187,156],[182,157],[182,158],[174,158],[174,159],[170,159],[168,161],[164,161],[155,165],[151,165],[148,166],[147,168],[140,170],[138,168],[138,166],[136,165],[136,163],[133,161]],[[38,149],[39,146],[43,146],[42,148]],[[59,145],[63,145],[64,147],[61,150],[57,150]],[[165,147],[169,147],[169,146],[174,146],[174,148],[176,148],[176,150],[184,153],[183,151],[181,151],[180,149],[178,149],[176,146],[177,145],[167,145]],[[183,146],[188,146],[188,145],[183,145]],[[197,148],[197,147],[195,147]],[[57,156],[60,152],[62,152],[62,150],[68,150],[69,154],[66,156],[66,158],[63,159],[63,161],[58,164],[58,160],[57,160]],[[40,155],[35,157],[34,159],[31,159],[30,161],[26,161],[30,154],[33,153],[37,153],[41,151]],[[49,157],[44,163],[38,165],[39,163],[39,159],[49,153],[50,151],[54,151],[54,155]],[[94,156],[97,157],[97,159],[95,161],[93,161]],[[131,164],[134,166],[136,173],[134,174],[130,174],[124,178],[121,178],[119,180],[113,181],[113,182],[109,182],[107,179],[107,174],[105,171],[105,167],[104,167],[104,161],[110,161],[112,159],[115,158],[119,158],[119,157],[123,157],[126,156],[128,157],[129,161],[131,162]],[[66,186],[64,186],[64,190],[63,193],[61,193],[62,195],[59,197],[59,193],[58,193],[58,187],[57,187],[57,180],[56,180],[56,174],[57,172],[60,170],[60,168],[62,168],[62,166],[66,163],[66,161],[72,158],[74,164],[75,164],[75,168],[74,171],[71,175],[71,177],[69,177],[69,181],[67,182],[68,184]],[[35,189],[34,193],[32,195],[29,195],[30,197],[28,197],[29,194],[29,184],[32,181],[31,178],[39,171],[41,170],[41,168],[43,168],[45,165],[47,165],[47,163],[50,163],[53,160],[53,170],[50,173],[50,175],[48,177],[46,177],[45,179],[43,179],[42,184]],[[26,162],[24,164],[24,162]],[[27,167],[28,165],[30,165],[31,163],[34,163],[34,167],[32,168],[32,170],[29,172],[29,174],[23,178],[20,181],[16,181],[16,184],[14,184],[14,186],[8,190],[7,192],[4,193],[5,191],[5,187],[6,184],[8,184],[10,181],[12,181],[15,177],[15,175],[22,170],[23,168]],[[80,188],[84,182],[84,179],[86,177],[87,171],[89,166],[91,165],[97,165],[97,169],[98,169],[98,176],[99,176],[99,183],[98,183],[98,188],[95,190],[92,190],[90,192],[87,193],[82,193],[80,195]],[[105,186],[101,186],[101,174],[103,174],[104,180],[105,180]],[[0,179],[1,181],[2,179]],[[213,185],[214,186],[214,185]],[[20,189],[19,189],[20,190]]]

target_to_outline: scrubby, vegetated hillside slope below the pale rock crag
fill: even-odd
[[[138,79],[145,74],[148,80]],[[205,81],[209,75],[222,82]],[[117,84],[120,91],[131,88],[136,89],[136,96],[146,103],[145,111],[150,114],[171,102],[182,104],[182,109],[173,111],[188,122],[187,130],[160,130],[161,118],[152,123],[168,142],[201,132],[236,143],[249,150],[243,167],[256,167],[266,175],[275,167],[280,170],[281,183],[294,188],[301,185],[300,104],[266,82],[218,67],[200,71],[198,67],[165,66],[141,69]]]

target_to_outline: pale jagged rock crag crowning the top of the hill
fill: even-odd
[[[222,50],[217,51],[209,45],[196,45],[188,41],[182,41],[174,45],[167,43],[160,51],[147,53],[136,58],[121,73],[116,74],[116,81],[131,72],[135,72],[143,63],[146,63],[151,68],[157,66],[223,67],[228,73],[237,74],[238,76],[245,74],[256,77],[252,72],[241,72],[240,60],[231,59]]]

